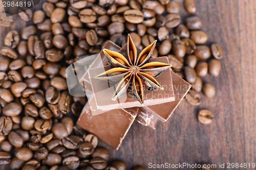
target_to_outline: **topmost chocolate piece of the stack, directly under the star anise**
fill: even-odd
[[[159,57],[150,59],[150,62],[162,62],[168,63],[167,57]],[[123,94],[118,100],[113,101],[112,96],[115,92],[115,86],[117,83],[109,83],[105,80],[98,80],[95,77],[105,70],[110,69],[109,66],[97,67],[89,69],[89,78],[92,84],[92,90],[96,101],[97,109],[110,110],[121,109],[130,107],[141,107],[142,105],[134,99],[131,89],[127,91],[126,95]],[[166,102],[172,102],[175,100],[172,77],[170,70],[167,69],[162,74],[156,77],[156,80],[161,84],[164,90],[150,91],[144,90],[144,106],[156,105]]]

